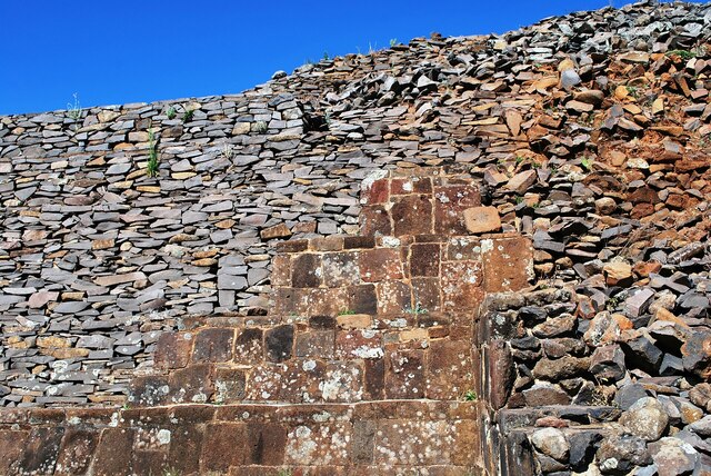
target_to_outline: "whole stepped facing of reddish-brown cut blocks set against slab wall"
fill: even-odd
[[[50,414],[48,422],[73,418],[84,428],[56,436],[47,467],[112,475],[491,470],[482,422],[484,387],[497,376],[484,378],[479,308],[488,292],[527,286],[530,241],[469,234],[463,217],[480,207],[478,188],[442,170],[367,179],[361,204],[360,236],[281,244],[269,315],[196,319],[162,335],[156,373],[133,379],[130,407],[18,410],[17,418],[33,419],[31,432],[67,428],[43,426]],[[83,459],[67,455],[81,450]],[[17,452],[10,473],[42,474],[44,463]]]

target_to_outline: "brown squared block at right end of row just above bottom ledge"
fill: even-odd
[[[457,400],[474,389],[471,340],[431,341],[427,364],[427,398]]]

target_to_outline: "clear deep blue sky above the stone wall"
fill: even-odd
[[[0,115],[239,92],[319,60],[609,0],[0,0]],[[615,7],[629,3],[614,0]]]

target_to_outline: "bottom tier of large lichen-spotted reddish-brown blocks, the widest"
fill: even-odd
[[[16,409],[0,414],[0,474],[480,474],[479,413],[431,400]]]

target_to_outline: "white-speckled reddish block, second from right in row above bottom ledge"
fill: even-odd
[[[388,398],[423,398],[425,389],[422,350],[389,350],[385,357]]]

